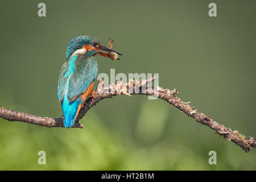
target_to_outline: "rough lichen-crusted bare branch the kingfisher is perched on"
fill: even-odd
[[[82,107],[79,114],[77,115],[77,119],[73,127],[84,127],[84,125],[81,125],[79,123],[79,120],[84,117],[86,112],[91,107],[96,105],[104,98],[112,98],[113,96],[120,96],[121,94],[125,94],[128,96],[131,96],[132,94],[142,94],[158,97],[164,101],[167,101],[168,103],[179,109],[181,112],[195,119],[197,122],[209,126],[221,137],[237,144],[246,152],[249,152],[251,148],[256,147],[255,138],[246,138],[238,131],[232,131],[228,127],[225,127],[224,125],[220,125],[216,121],[213,121],[213,119],[211,119],[209,116],[201,113],[199,110],[195,109],[195,107],[189,105],[188,102],[181,101],[175,96],[176,94],[179,94],[176,89],[168,90],[160,88],[159,86],[150,86],[151,82],[154,80],[155,77],[152,77],[148,80],[130,80],[126,84],[123,84],[123,82],[121,81],[117,81],[114,84],[108,86],[104,86],[104,83],[102,81],[99,81],[96,92],[94,93],[95,97],[91,97],[86,100],[84,107]],[[0,117],[2,117],[3,119],[7,119],[8,121],[21,121],[39,126],[64,127],[63,118],[39,117],[36,115],[21,113],[19,111],[5,109],[4,107],[0,107]]]

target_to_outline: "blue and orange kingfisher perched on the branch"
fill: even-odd
[[[66,52],[67,61],[60,69],[57,88],[65,127],[72,127],[86,99],[95,97],[93,84],[98,74],[98,64],[94,56],[110,57],[108,53],[100,50],[122,55],[102,46],[99,40],[91,36],[77,36],[69,41]]]

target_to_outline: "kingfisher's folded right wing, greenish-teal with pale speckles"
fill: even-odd
[[[83,94],[98,74],[98,64],[94,57],[77,61],[75,73],[72,74],[68,85],[69,101],[75,101]]]

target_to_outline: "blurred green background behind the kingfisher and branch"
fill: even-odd
[[[46,3],[44,18],[38,3]],[[217,17],[208,16],[210,2]],[[159,73],[159,85],[217,122],[256,137],[255,1],[3,1],[0,105],[57,118],[57,79],[69,39],[90,35],[123,53],[97,57],[99,73]],[[106,99],[84,129],[0,118],[4,170],[255,170],[249,153],[162,100]],[[46,151],[39,165],[38,151]],[[217,152],[209,165],[208,152]]]

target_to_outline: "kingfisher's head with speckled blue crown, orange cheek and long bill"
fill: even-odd
[[[97,39],[92,38],[91,36],[77,36],[69,41],[67,52],[66,52],[66,59],[69,60],[70,57],[75,55],[84,55],[84,56],[94,56],[94,55],[101,55],[105,57],[109,57],[104,52],[100,52],[100,50],[108,51],[108,52],[116,52],[112,49],[104,47],[101,45],[100,41]],[[118,55],[121,53],[116,52]]]

